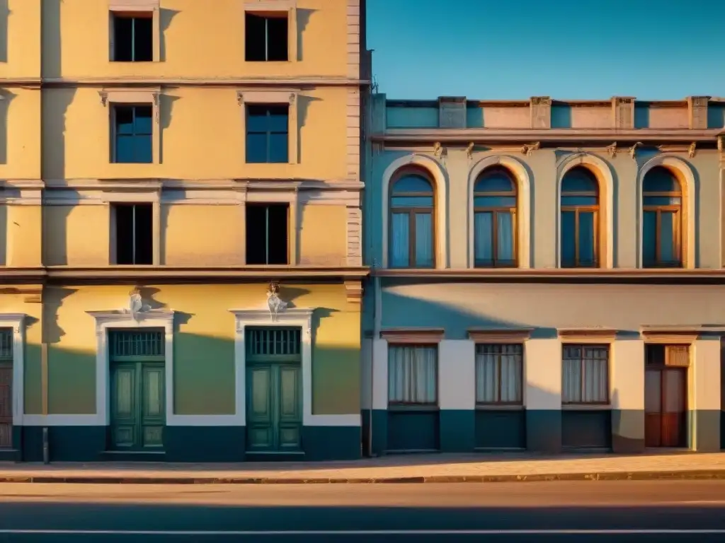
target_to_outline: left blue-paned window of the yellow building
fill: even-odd
[[[154,161],[153,106],[114,106],[114,162],[151,164]]]

